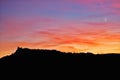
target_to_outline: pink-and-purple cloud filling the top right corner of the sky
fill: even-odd
[[[66,0],[68,4],[80,5],[84,10],[70,9],[75,12],[99,12],[100,15],[119,15],[120,14],[120,1],[119,0]],[[66,9],[69,10],[69,9]],[[69,10],[69,11],[70,11]],[[90,15],[92,16],[92,15]],[[95,16],[95,15],[93,15]]]

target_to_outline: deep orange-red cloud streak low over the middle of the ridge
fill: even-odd
[[[76,33],[79,33],[79,32],[76,32]],[[87,35],[75,35],[75,36],[72,36],[72,34],[74,33],[71,33],[70,35],[64,35],[64,34],[59,34],[59,33],[51,33],[51,32],[43,32],[43,31],[40,31],[39,33],[36,34],[36,37],[39,38],[39,36],[42,36],[43,39],[44,38],[48,38],[48,43],[52,43],[52,44],[85,44],[85,45],[97,45],[96,42],[93,42],[89,39],[85,39],[84,36],[87,36]],[[71,38],[72,37],[72,38]]]

